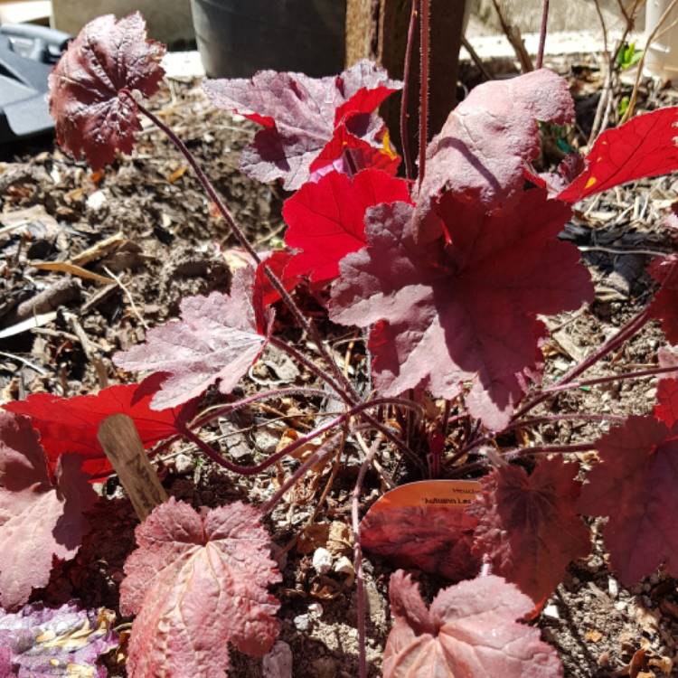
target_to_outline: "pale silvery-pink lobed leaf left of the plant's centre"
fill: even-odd
[[[116,353],[113,361],[124,370],[169,374],[151,400],[155,410],[197,398],[218,380],[220,391],[230,393],[250,369],[266,344],[257,331],[253,281],[253,269],[240,268],[230,295],[185,298],[180,321],[154,327],[145,344]]]

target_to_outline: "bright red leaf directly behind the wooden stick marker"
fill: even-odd
[[[99,444],[99,424],[112,414],[127,414],[134,419],[144,447],[153,447],[176,436],[178,422],[193,415],[193,407],[151,410],[151,399],[162,375],[140,384],[111,386],[97,395],[62,398],[50,393],[34,393],[26,400],[8,402],[5,410],[31,419],[40,433],[50,470],[54,472],[62,455],[72,452],[83,459],[82,470],[95,478],[111,471]]]

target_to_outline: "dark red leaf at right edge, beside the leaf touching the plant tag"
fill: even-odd
[[[678,575],[678,427],[629,417],[596,447],[600,463],[589,471],[578,510],[609,516],[604,538],[619,579],[631,586],[662,562]]]

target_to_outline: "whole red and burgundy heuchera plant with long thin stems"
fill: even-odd
[[[421,21],[426,24],[427,13]],[[250,266],[235,275],[231,290],[184,299],[181,318],[118,353],[120,367],[150,372],[146,381],[95,396],[34,395],[5,406],[0,604],[23,605],[46,582],[52,555],[66,559],[77,550],[91,498],[85,478],[110,470],[97,440],[99,423],[109,414],[132,417],[149,449],[181,437],[241,475],[258,474],[317,438],[322,444],[259,508],[231,504],[196,512],[174,500],[160,506],[137,529],[139,548],[127,561],[122,609],[137,615],[130,675],[218,675],[228,669],[227,642],[264,654],[278,634],[278,603],[267,588],[279,574],[260,521],[309,468],[334,453],[348,431],[372,437],[353,493],[360,675],[366,665],[358,501],[367,468],[383,446],[406,457],[422,476],[481,476],[482,493],[469,509],[472,533],[464,535],[467,558],[459,558],[457,549],[443,570],[440,557],[427,558],[449,579],[476,574],[484,563],[476,579],[441,591],[428,608],[409,576],[393,575],[395,625],[384,675],[457,675],[459,666],[478,678],[560,675],[554,651],[517,622],[551,594],[571,560],[589,552],[582,515],[609,517],[611,566],[626,583],[661,563],[678,574],[672,518],[678,511],[678,379],[672,374],[678,361],[664,352],[657,368],[580,379],[652,319],[661,322],[668,342],[678,343],[675,255],[652,263],[659,289],[650,304],[553,385],[541,384],[548,331],[538,317],[593,300],[578,250],[559,233],[582,198],[678,169],[678,108],[633,118],[601,134],[589,155],[571,155],[557,172],[539,174],[540,123],[564,125],[573,118],[567,82],[558,75],[540,69],[481,85],[428,146],[423,94],[415,182],[396,176],[400,158],[375,113],[400,83],[372,63],[362,61],[332,78],[264,71],[251,80],[207,80],[204,89],[215,106],[261,126],[242,155],[243,170],[297,191],[283,210],[286,249],[262,257],[193,155],[143,103],[141,95],[154,94],[162,80],[163,52],[146,39],[139,14],[88,24],[50,81],[59,142],[75,158],[100,167],[117,151],[131,152],[139,116],[146,116],[191,165]],[[421,52],[425,66],[428,53]],[[359,394],[335,363],[297,303],[295,289],[302,284],[326,301],[335,323],[364,329],[372,391]],[[316,354],[274,332],[274,306],[281,304]],[[267,344],[312,372],[324,389],[260,391],[201,410],[202,394],[215,384],[231,393]],[[561,391],[652,375],[664,379],[654,413],[644,417],[532,416]],[[223,457],[200,436],[213,420],[257,401],[285,395],[313,400],[328,391],[344,411],[255,466]],[[559,419],[618,426],[577,445],[500,444],[516,429]],[[579,466],[560,456],[590,449],[598,450],[599,463],[582,484]],[[523,457],[532,459],[531,473],[512,463]],[[31,541],[23,540],[38,506],[39,539],[31,532]],[[61,515],[68,516],[68,533],[61,530]],[[427,569],[427,559],[422,564],[410,556],[408,565]]]

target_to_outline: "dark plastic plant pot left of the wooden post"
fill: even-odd
[[[344,70],[345,0],[191,0],[205,71],[248,78],[257,71],[311,76]]]

